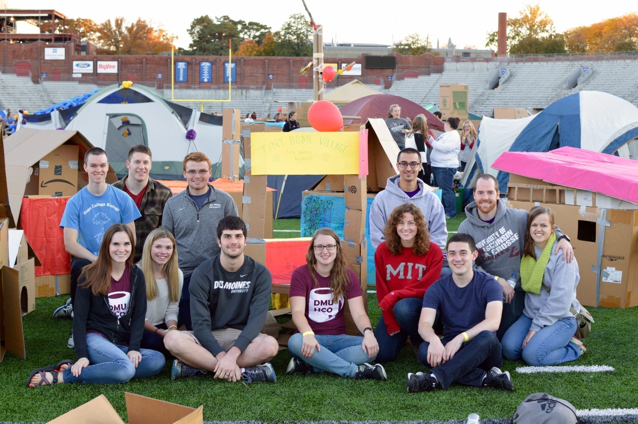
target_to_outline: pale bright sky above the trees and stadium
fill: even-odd
[[[193,19],[201,15],[228,15],[234,20],[260,22],[276,31],[292,13],[306,13],[301,0],[191,0],[184,3],[165,0],[0,0],[0,7],[3,3],[7,3],[8,8],[54,8],[67,17],[91,18],[98,23],[116,16],[124,16],[127,21],[142,17],[177,36],[176,47],[184,48],[188,48],[191,41],[186,30]],[[508,17],[516,17],[529,3],[538,3],[541,10],[554,20],[559,33],[638,11],[638,3],[627,0],[611,3],[512,0],[500,5],[477,0],[449,3],[417,0],[413,3],[416,5],[409,6],[407,2],[401,2],[400,6],[392,6],[392,1],[378,0],[306,0],[315,21],[323,25],[325,42],[334,40],[339,43],[391,45],[393,41],[417,32],[423,36],[429,34],[433,47],[436,47],[437,38],[441,45],[452,38],[452,43],[459,48],[485,48],[486,33],[498,29],[498,13],[506,12]],[[440,7],[431,6],[434,3],[440,4]]]

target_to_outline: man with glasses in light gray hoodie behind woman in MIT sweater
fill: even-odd
[[[447,243],[445,211],[436,194],[427,190],[424,182],[418,178],[422,166],[418,150],[408,147],[399,152],[397,156],[399,175],[388,179],[385,190],[375,196],[370,207],[370,238],[375,249],[385,240],[383,230],[392,210],[403,203],[413,203],[420,208],[427,219],[430,240],[445,252]]]

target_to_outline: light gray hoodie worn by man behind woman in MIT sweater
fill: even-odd
[[[403,170],[401,170],[403,171]],[[417,172],[418,173],[418,172]],[[436,194],[427,190],[424,182],[416,179],[419,192],[412,197],[401,190],[399,180],[401,174],[390,177],[382,190],[375,196],[375,200],[370,207],[370,238],[373,247],[376,247],[385,240],[383,230],[388,222],[388,217],[392,210],[403,203],[413,203],[417,205],[427,219],[427,230],[430,232],[430,240],[436,243],[441,251],[445,251],[447,242],[447,227],[445,225],[445,212],[443,205]]]

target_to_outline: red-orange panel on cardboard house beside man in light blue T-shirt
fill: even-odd
[[[68,197],[22,198],[20,226],[42,263],[36,267],[36,276],[71,272],[71,256],[64,250],[64,232],[60,228],[68,200]]]

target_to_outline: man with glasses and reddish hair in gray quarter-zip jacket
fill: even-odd
[[[193,270],[200,263],[219,253],[215,237],[219,221],[226,215],[239,216],[230,196],[208,183],[211,159],[202,152],[184,157],[182,172],[188,187],[168,199],[162,214],[161,227],[173,233],[179,268],[184,273],[182,298],[179,301],[178,326],[191,329],[191,308],[188,287]]]

